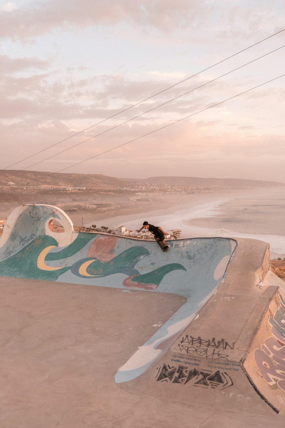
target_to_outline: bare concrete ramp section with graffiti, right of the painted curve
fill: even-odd
[[[225,280],[198,316],[150,369],[120,386],[197,408],[263,416],[256,426],[267,426],[267,418],[284,426],[285,284],[269,261],[267,244],[241,240]]]

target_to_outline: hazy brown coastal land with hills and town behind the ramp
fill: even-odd
[[[0,236],[6,217],[21,204],[47,203],[66,212],[76,230],[107,232],[140,239],[154,239],[153,234],[128,229],[127,225],[101,224],[102,218],[112,215],[150,211],[161,205],[171,206],[188,202],[195,195],[228,194],[251,188],[268,187],[282,183],[254,180],[218,180],[191,177],[153,177],[146,180],[123,180],[92,174],[57,174],[48,184],[38,184],[39,172],[13,172],[14,181],[7,181],[5,172],[0,173]],[[11,176],[10,176],[11,177]],[[8,176],[9,178],[9,176]],[[80,187],[76,186],[80,183]],[[27,184],[25,184],[27,183]],[[55,184],[61,183],[61,184]],[[84,186],[85,184],[85,186]],[[2,223],[1,223],[2,221]],[[92,226],[85,223],[94,222]],[[60,226],[55,222],[54,227]],[[167,231],[167,239],[181,237],[181,229]]]

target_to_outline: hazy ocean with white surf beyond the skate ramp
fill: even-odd
[[[181,208],[181,205],[176,208]],[[258,239],[270,244],[271,258],[285,258],[285,188],[251,189],[224,196],[217,194],[214,201],[176,208],[172,207],[169,214],[152,211],[106,221],[135,230],[147,220],[165,231],[181,229],[182,238]]]

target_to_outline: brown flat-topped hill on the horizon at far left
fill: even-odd
[[[46,177],[45,177],[46,176]],[[8,183],[27,186],[69,186],[69,187],[97,187],[103,186],[128,187],[129,182],[116,177],[101,174],[67,174],[43,171],[17,171],[6,169],[0,171],[0,186]]]

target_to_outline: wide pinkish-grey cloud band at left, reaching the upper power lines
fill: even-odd
[[[18,77],[13,76],[12,72],[33,67],[45,68],[49,63],[36,58],[11,59],[2,56],[2,59],[0,119],[34,116],[46,120],[91,119],[96,122],[97,119],[106,119],[160,92],[170,84],[151,80],[130,81],[121,75],[94,75],[94,72],[86,67],[79,67],[77,71],[80,73],[77,73],[75,68],[68,68],[60,73],[30,73],[28,77]],[[183,86],[178,90],[178,93],[183,92]],[[173,95],[176,95],[173,89],[163,92],[121,114],[118,120],[121,122],[140,115],[173,98]],[[205,98],[205,95],[191,101],[181,98],[159,107],[151,115],[142,116],[139,120],[146,120],[147,117],[153,121],[165,114],[176,117],[180,113],[185,114],[185,111],[187,113],[189,106],[192,109],[200,107],[208,98]]]

